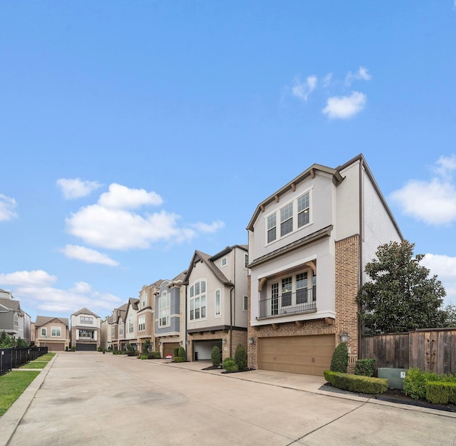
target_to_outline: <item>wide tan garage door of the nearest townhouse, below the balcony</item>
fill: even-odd
[[[323,375],[336,346],[334,335],[281,336],[258,339],[258,368]]]

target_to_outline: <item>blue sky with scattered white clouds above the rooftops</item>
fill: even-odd
[[[0,288],[100,316],[359,153],[456,303],[455,1],[2,1]]]

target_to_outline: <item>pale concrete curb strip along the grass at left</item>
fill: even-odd
[[[10,438],[16,431],[16,427],[21,422],[22,418],[35,398],[36,392],[46,379],[49,370],[56,361],[58,353],[49,361],[45,368],[40,369],[40,374],[28,385],[21,396],[11,405],[11,408],[6,410],[6,413],[0,418],[0,445],[8,445]],[[28,369],[31,370],[31,369]]]

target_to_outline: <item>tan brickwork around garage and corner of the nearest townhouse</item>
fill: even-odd
[[[252,338],[253,343],[247,344],[248,365],[257,368],[258,338],[277,336],[312,336],[312,335],[336,335],[336,345],[341,340],[342,333],[348,333],[349,356],[348,371],[353,372],[356,359],[358,358],[358,235],[336,242],[336,319],[328,323],[323,319],[301,321],[299,323],[283,323],[274,328],[272,325],[252,327],[249,326],[247,338]],[[318,276],[318,272],[317,272]],[[317,282],[318,283],[318,282]],[[251,277],[248,277],[249,298],[248,321],[250,321]],[[318,305],[318,301],[317,301]],[[301,325],[301,326],[300,326]],[[336,348],[336,345],[334,348]]]

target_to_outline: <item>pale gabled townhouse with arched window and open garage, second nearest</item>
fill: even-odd
[[[187,360],[222,358],[247,347],[247,246],[227,247],[214,256],[195,251],[183,284],[187,286]]]

